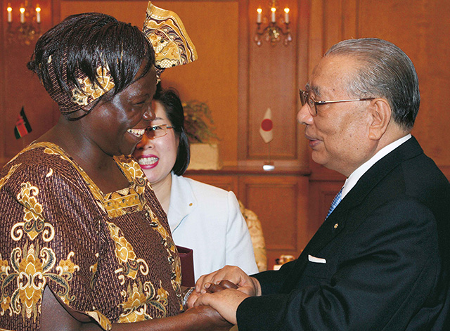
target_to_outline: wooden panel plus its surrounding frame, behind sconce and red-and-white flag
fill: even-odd
[[[256,9],[260,6],[263,17],[269,11],[268,1],[240,1],[240,96],[238,160],[240,164],[260,165],[271,159],[281,166],[307,167],[304,163],[306,148],[299,134],[295,115],[298,110],[298,80],[305,79],[303,64],[307,59],[304,46],[307,34],[300,27],[307,27],[307,16],[299,8],[306,8],[307,1],[278,1],[278,11],[290,8],[290,32],[293,42],[271,45],[262,41],[257,46]],[[302,21],[300,22],[300,19]],[[278,25],[280,23],[278,22]],[[262,27],[266,25],[262,23]],[[302,32],[302,34],[300,34]],[[299,48],[302,51],[299,52]],[[301,68],[300,68],[301,67]],[[259,127],[267,108],[272,110],[274,140],[268,146],[259,135]],[[286,143],[289,142],[289,143]]]

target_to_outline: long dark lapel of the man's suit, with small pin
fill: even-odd
[[[285,279],[285,283],[281,287],[281,293],[289,293],[296,287],[304,268],[308,263],[308,255],[316,256],[325,247],[328,242],[333,240],[344,228],[347,221],[347,214],[349,209],[360,205],[364,201],[368,193],[383,180],[383,178],[395,167],[398,167],[401,162],[416,157],[423,153],[422,148],[416,141],[416,138],[411,137],[408,141],[401,144],[398,148],[392,150],[385,155],[381,160],[373,164],[373,166],[366,171],[366,174],[361,176],[358,183],[349,191],[342,199],[340,204],[328,216],[328,219],[322,223],[319,230],[314,234],[313,238],[309,240],[306,247],[304,247],[302,254],[298,257],[295,265]]]

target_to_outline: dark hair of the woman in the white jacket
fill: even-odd
[[[176,151],[176,161],[172,171],[177,176],[184,174],[191,160],[191,148],[189,147],[188,136],[184,129],[184,110],[178,93],[174,89],[162,89],[158,84],[153,100],[161,103],[167,119],[174,126],[175,134],[179,138],[178,150]]]

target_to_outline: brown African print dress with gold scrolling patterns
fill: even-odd
[[[165,213],[130,157],[129,187],[103,194],[61,148],[33,143],[0,172],[0,330],[39,330],[47,285],[108,330],[181,311]]]

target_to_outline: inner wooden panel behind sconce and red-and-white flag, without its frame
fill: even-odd
[[[290,7],[290,25],[296,27],[296,2],[283,1],[283,4],[281,1],[278,2],[280,4],[278,11],[283,11],[284,2]],[[295,122],[297,84],[295,70],[293,70],[297,58],[297,31],[293,30],[293,42],[288,46],[283,45],[282,41],[275,45],[262,41],[262,45],[257,46],[251,37],[254,36],[256,30],[256,8],[261,6],[263,16],[269,15],[269,6],[264,5],[259,0],[249,1],[251,42],[248,58],[250,74],[248,158],[264,159],[266,157],[266,144],[259,135],[259,127],[266,109],[271,108],[272,120],[275,125],[274,140],[271,142],[272,157],[295,160],[298,152],[297,144],[286,145],[285,141],[297,141]],[[281,15],[281,13],[277,13],[277,15]],[[278,22],[278,25],[281,24]],[[279,63],[283,63],[283,65],[278,65]]]

